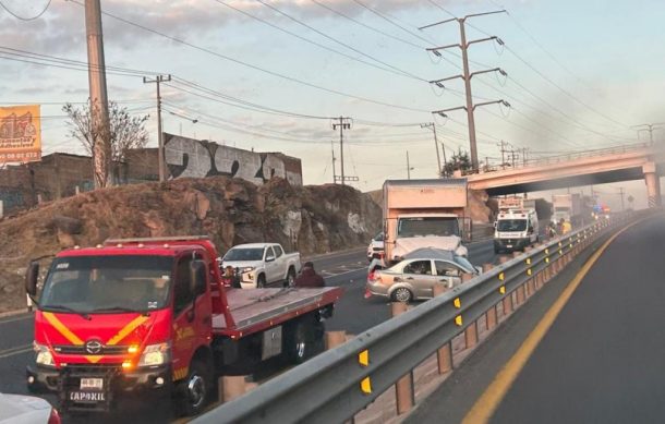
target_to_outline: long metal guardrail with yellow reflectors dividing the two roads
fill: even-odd
[[[596,221],[494,267],[440,296],[195,419],[193,423],[341,423],[528,283],[541,286],[598,237],[639,214]],[[544,279],[543,277],[546,277]],[[528,289],[527,289],[528,290]],[[533,289],[532,289],[533,290]],[[523,292],[522,292],[523,294]],[[477,332],[475,334],[477,337]]]

